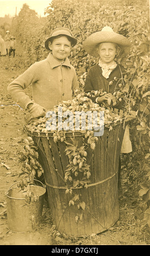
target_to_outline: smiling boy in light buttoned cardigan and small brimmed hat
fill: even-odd
[[[32,118],[39,118],[61,100],[71,100],[74,89],[79,89],[76,71],[68,56],[77,40],[68,28],[56,28],[45,41],[51,51],[48,57],[32,64],[8,86],[8,92],[18,104],[28,110]],[[32,83],[32,100],[24,89]]]

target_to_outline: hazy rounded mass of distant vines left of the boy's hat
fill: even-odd
[[[27,53],[27,64],[44,59],[45,31],[47,31],[47,18],[38,17],[35,10],[31,10],[27,4],[23,4],[18,16],[12,20],[12,32],[16,40]]]

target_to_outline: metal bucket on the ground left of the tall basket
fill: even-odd
[[[41,181],[34,180],[39,185],[29,184],[25,190],[17,187],[15,184],[11,185],[6,191],[7,197],[7,217],[9,230],[14,232],[25,233],[35,229],[40,223],[44,204],[45,186]],[[37,202],[30,204],[25,201],[25,191],[31,190],[38,194]]]

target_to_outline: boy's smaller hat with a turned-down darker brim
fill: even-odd
[[[50,37],[45,41],[45,48],[50,51],[50,48],[48,46],[50,39],[55,38],[55,36],[57,35],[67,35],[71,42],[72,42],[72,46],[75,46],[77,43],[77,39],[73,37],[73,34],[71,33],[70,29],[65,28],[65,27],[61,27],[61,28],[55,28],[51,34]]]

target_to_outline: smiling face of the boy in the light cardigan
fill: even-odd
[[[71,42],[66,36],[55,38],[53,42],[49,42],[49,48],[52,51],[53,57],[59,62],[62,62],[68,57],[71,50]]]

